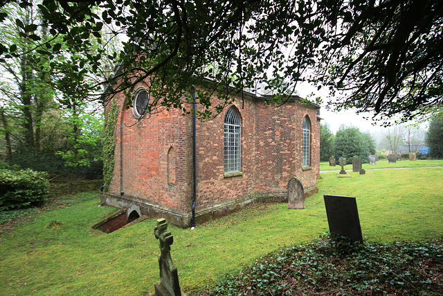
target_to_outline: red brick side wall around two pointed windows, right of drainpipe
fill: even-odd
[[[224,177],[224,112],[197,125],[197,209],[243,198],[286,192],[291,177],[305,189],[316,186],[319,123],[316,109],[291,101],[280,107],[236,103],[242,116],[243,175]],[[302,170],[302,123],[311,121],[311,166]]]

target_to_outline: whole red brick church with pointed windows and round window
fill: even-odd
[[[248,92],[234,98],[202,122],[181,110],[145,116],[150,95],[143,86],[128,110],[123,94],[116,96],[114,174],[102,203],[190,227],[253,202],[287,201],[291,177],[305,196],[318,191],[318,105],[297,96],[280,107]]]

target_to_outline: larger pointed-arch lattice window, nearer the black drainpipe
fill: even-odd
[[[242,119],[231,106],[224,116],[224,173],[240,171]]]

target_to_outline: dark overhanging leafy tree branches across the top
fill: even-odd
[[[2,1],[1,6],[15,0]],[[30,0],[20,6],[32,6]],[[228,92],[272,90],[268,102],[284,103],[300,81],[327,87],[331,105],[374,112],[379,119],[401,114],[403,120],[430,112],[442,103],[443,1],[301,1],[301,0],[42,0],[44,24],[25,26],[33,51],[48,56],[84,52],[67,61],[58,87],[87,94],[111,85],[111,93],[130,96],[148,79],[151,112],[179,107],[189,112],[192,85],[206,83],[198,94],[199,116],[206,118],[230,103]],[[0,21],[6,18],[2,12]],[[32,33],[48,26],[48,41]],[[100,71],[105,49],[89,51],[91,36],[125,35],[123,51],[109,55],[119,62],[114,77],[95,85],[66,88],[79,73]],[[60,42],[50,42],[62,37]],[[105,47],[105,44],[103,44]],[[17,55],[0,44],[0,58]],[[86,67],[88,65],[88,67]],[[51,67],[55,64],[51,64]],[[210,100],[217,91],[220,102]],[[86,97],[86,96],[83,96]],[[161,98],[161,100],[160,100]]]

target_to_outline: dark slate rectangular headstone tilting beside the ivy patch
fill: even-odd
[[[323,195],[329,232],[363,243],[356,199],[351,196]]]

